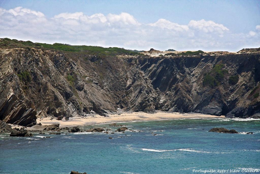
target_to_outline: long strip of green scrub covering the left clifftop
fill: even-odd
[[[33,43],[31,41],[18,41],[16,39],[3,38],[0,39],[0,47],[24,47],[24,48],[48,48],[61,51],[77,51],[87,52],[89,54],[101,54],[101,55],[140,55],[138,52],[126,50],[124,48],[109,47],[104,48],[100,46],[86,46],[86,45],[69,45],[69,44],[45,44],[45,43]]]

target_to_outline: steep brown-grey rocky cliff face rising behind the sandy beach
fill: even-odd
[[[0,48],[0,120],[100,115],[118,108],[250,117],[260,112],[260,51],[108,56]]]

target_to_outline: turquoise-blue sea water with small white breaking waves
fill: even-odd
[[[260,173],[242,172],[260,169],[259,120],[175,119],[120,124],[141,132],[45,135],[51,138],[0,134],[0,173],[56,174],[75,170],[88,174],[186,174],[200,169]],[[254,134],[208,132],[213,127]]]

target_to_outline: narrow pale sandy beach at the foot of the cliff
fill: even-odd
[[[60,127],[72,127],[72,126],[83,126],[93,125],[100,123],[113,123],[113,122],[130,122],[130,121],[148,121],[148,120],[161,120],[161,119],[179,119],[179,118],[225,118],[224,116],[212,116],[200,113],[184,113],[178,112],[167,113],[157,112],[154,114],[148,114],[145,112],[132,112],[132,113],[121,113],[121,115],[109,115],[109,117],[103,117],[100,115],[94,115],[89,117],[70,117],[68,121],[62,120],[51,120],[47,118],[37,118],[37,123],[42,125],[56,124],[59,123]]]

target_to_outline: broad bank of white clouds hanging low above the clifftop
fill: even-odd
[[[260,26],[256,26],[259,30]],[[0,8],[0,38],[31,40],[43,43],[117,46],[148,50],[230,50],[246,45],[260,45],[255,31],[235,34],[223,24],[191,20],[180,25],[166,19],[154,23],[138,22],[131,14],[82,12],[61,13],[47,18],[39,11],[17,7]],[[259,47],[259,46],[258,46]]]

